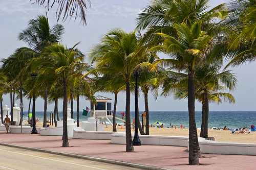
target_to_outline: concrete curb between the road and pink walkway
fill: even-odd
[[[163,170],[168,169],[169,170],[169,168],[143,165],[143,164],[137,164],[137,163],[131,163],[131,162],[125,162],[125,161],[117,161],[117,160],[113,160],[113,159],[104,159],[104,158],[93,157],[93,156],[84,156],[84,155],[78,155],[78,154],[71,154],[71,153],[66,153],[66,152],[51,151],[51,150],[40,149],[40,148],[25,147],[25,146],[22,146],[22,145],[16,145],[16,144],[10,144],[10,143],[0,142],[0,145],[4,145],[4,146],[7,146],[7,147],[13,147],[13,148],[19,148],[19,149],[25,149],[25,150],[31,150],[31,151],[37,151],[37,152],[45,152],[45,153],[55,154],[55,155],[75,157],[75,158],[86,159],[86,160],[97,161],[97,162],[105,162],[105,163],[112,163],[112,164],[117,164],[117,165],[125,165],[125,166],[134,167],[134,168],[151,169],[151,170],[157,170],[157,169],[163,169]]]

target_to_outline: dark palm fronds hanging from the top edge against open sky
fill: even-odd
[[[32,0],[30,0],[30,2],[31,1]],[[89,3],[89,8],[90,8],[91,1],[90,0],[87,0],[87,1]],[[79,16],[79,17],[81,17],[80,22],[82,23],[82,25],[84,25],[84,24],[87,25],[87,23],[86,23],[86,11],[87,11],[86,1],[84,1],[84,0],[79,0],[79,1],[60,0],[60,1],[53,1],[52,4],[50,4],[50,1],[47,1],[47,3],[45,3],[45,2],[46,2],[45,0],[35,0],[34,1],[34,3],[36,3],[40,6],[44,6],[48,11],[49,11],[49,7],[52,8],[55,3],[59,4],[57,11],[56,11],[57,21],[59,21],[62,11],[63,11],[63,9],[65,9],[62,21],[66,21],[66,19],[69,16],[72,17],[74,14],[76,14],[75,20]],[[79,13],[78,13],[78,9],[80,10]]]

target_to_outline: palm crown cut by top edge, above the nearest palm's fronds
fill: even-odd
[[[163,38],[154,33],[164,33],[177,37],[175,24],[191,27],[196,21],[201,20],[201,30],[207,34],[219,38],[220,33],[226,32],[226,27],[220,25],[220,20],[228,16],[225,4],[207,10],[209,0],[154,0],[142,9],[136,18],[137,30],[146,30],[143,42],[161,44]]]

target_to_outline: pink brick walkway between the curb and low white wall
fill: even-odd
[[[256,156],[202,154],[200,165],[188,165],[184,147],[142,145],[134,153],[126,153],[125,145],[111,144],[110,140],[69,138],[69,148],[63,148],[61,136],[13,134],[0,132],[0,142],[52,151],[107,158],[170,169],[255,169]]]

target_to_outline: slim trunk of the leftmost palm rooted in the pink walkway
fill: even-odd
[[[62,147],[69,147],[68,140],[68,101],[67,101],[67,82],[63,80],[63,135],[62,135]]]

